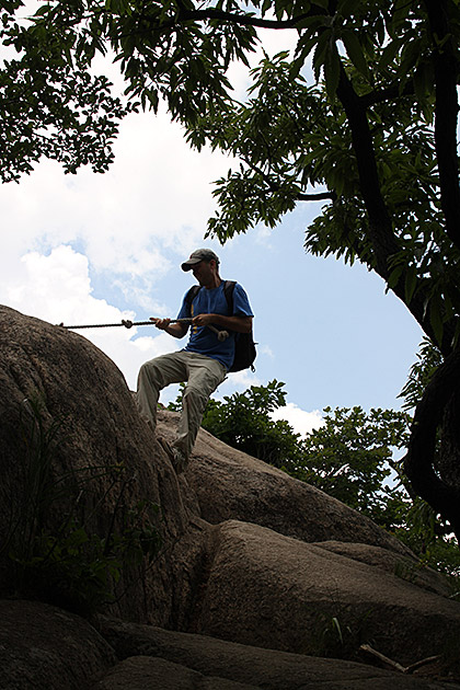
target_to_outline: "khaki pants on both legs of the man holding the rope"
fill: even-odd
[[[171,383],[186,381],[182,412],[173,447],[187,460],[202,424],[210,394],[227,376],[220,361],[181,350],[146,361],[137,380],[137,405],[140,414],[154,430],[160,391]]]

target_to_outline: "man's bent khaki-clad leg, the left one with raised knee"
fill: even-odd
[[[146,361],[139,369],[136,402],[141,416],[152,430],[157,426],[157,405],[160,391],[170,383],[187,380],[184,353],[170,353]]]

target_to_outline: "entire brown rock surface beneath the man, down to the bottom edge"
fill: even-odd
[[[41,401],[39,424],[24,399]],[[53,424],[58,442],[47,445]],[[173,437],[175,424],[175,414],[160,413],[159,433],[164,437]],[[4,620],[10,622],[3,625],[3,639],[11,674],[15,659],[24,678],[35,674],[34,649],[39,649],[43,668],[47,664],[64,668],[65,658],[69,668],[73,662],[79,666],[80,641],[88,647],[89,662],[77,672],[79,685],[71,685],[74,671],[57,670],[60,690],[136,690],[146,687],[142,678],[149,678],[150,686],[160,678],[163,688],[171,679],[174,688],[235,690],[426,688],[421,679],[317,657],[356,659],[359,644],[368,642],[403,665],[434,654],[460,658],[460,605],[446,597],[446,580],[432,571],[418,571],[413,554],[394,537],[204,430],[189,468],[177,478],[139,417],[123,376],[103,353],[76,333],[0,307],[3,593],[12,584],[4,544],[11,541],[11,525],[20,515],[16,507],[24,505],[26,495],[24,459],[35,462],[37,448],[48,452],[54,481],[64,474],[74,481],[50,522],[59,524],[60,510],[68,509],[66,501],[74,501],[78,490],[88,524],[104,537],[114,515],[117,518],[120,493],[114,468],[123,463],[124,505],[128,509],[147,499],[160,506],[163,545],[148,567],[124,573],[118,589],[123,596],[108,609],[124,619],[123,625],[139,626],[125,629],[123,644],[115,624],[101,629],[116,647],[118,664],[89,623],[77,619],[80,629],[71,619],[69,630],[74,633],[66,636],[62,621],[70,614],[60,612],[59,619],[56,609],[50,612],[46,607],[35,620],[44,635],[48,630],[49,645],[44,641],[36,646],[38,633],[32,632],[28,642],[24,632],[31,625],[26,607],[45,605],[24,605],[14,622],[8,619],[12,616],[8,607],[18,602],[8,601]],[[78,478],[89,470],[95,476],[82,487]],[[161,653],[152,652],[154,645]],[[298,677],[289,676],[295,669]],[[5,686],[11,690],[26,687],[11,678]],[[126,685],[128,678],[131,686]]]

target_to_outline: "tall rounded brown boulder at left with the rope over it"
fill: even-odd
[[[74,514],[104,539],[143,502],[163,548],[185,542],[176,566],[168,555],[146,574],[125,568],[117,609],[169,624],[182,559],[189,563],[188,509],[114,363],[77,333],[0,307],[0,586],[14,587],[5,554],[37,526],[56,529]]]

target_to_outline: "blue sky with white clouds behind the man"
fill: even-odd
[[[267,42],[274,54],[286,36]],[[234,68],[232,80],[241,91],[246,74]],[[65,175],[43,160],[19,184],[0,185],[0,303],[66,325],[173,318],[194,283],[180,265],[207,246],[221,260],[221,277],[245,288],[258,343],[255,372],[229,375],[216,398],[283,381],[288,405],[278,416],[302,434],[321,423],[325,406],[400,409],[422,331],[377,275],[304,252],[320,203],[302,203],[275,229],[261,226],[222,246],[204,235],[216,209],[212,182],[231,160],[189,149],[164,108],[125,118],[114,151],[105,174]],[[113,359],[131,390],[145,360],[185,344],[154,326],[79,333]],[[176,394],[171,387],[161,402]]]

